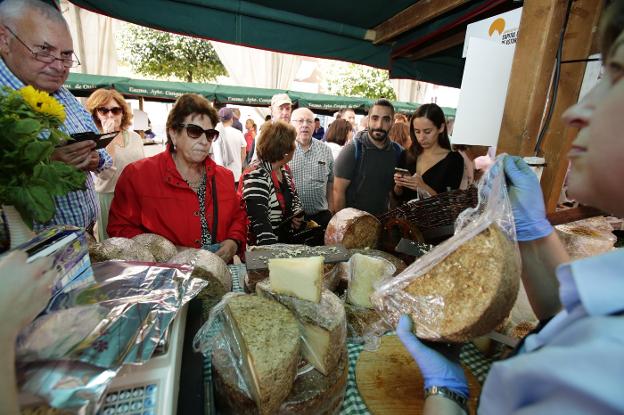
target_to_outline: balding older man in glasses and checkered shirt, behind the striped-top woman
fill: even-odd
[[[297,148],[289,166],[306,220],[325,228],[333,215],[334,158],[325,143],[312,139],[312,111],[298,108],[293,111],[290,122],[297,130]]]

